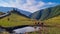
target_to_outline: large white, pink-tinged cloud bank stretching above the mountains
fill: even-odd
[[[13,0],[9,0],[9,3],[3,2],[3,3],[0,3],[0,6],[16,7],[16,8],[26,10],[26,11],[30,11],[33,13],[33,12],[41,9],[40,7],[53,4],[52,2],[45,3],[43,1],[37,2],[35,0],[25,0],[25,1],[26,2],[24,3],[24,0],[23,1],[22,0],[15,0],[15,2]]]

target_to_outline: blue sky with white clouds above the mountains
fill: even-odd
[[[15,7],[31,13],[60,4],[60,0],[0,0],[0,7]]]

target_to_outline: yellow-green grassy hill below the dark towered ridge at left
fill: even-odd
[[[15,13],[11,13],[10,16],[0,19],[0,25],[2,26],[18,26],[18,25],[26,25],[31,23],[32,21],[29,18],[26,18],[24,16]]]

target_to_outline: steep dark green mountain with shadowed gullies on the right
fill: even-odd
[[[31,19],[45,20],[60,15],[60,5],[38,10],[30,15]]]

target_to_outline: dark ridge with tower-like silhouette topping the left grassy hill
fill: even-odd
[[[0,12],[0,19],[9,16],[9,15],[11,15],[12,13],[13,13],[13,14],[18,14],[18,15],[21,15],[21,16],[24,16],[24,17],[26,17],[26,18],[30,18],[30,17],[26,16],[25,14],[22,14],[22,13],[21,13],[20,11],[18,11],[16,8],[13,8],[13,10],[8,11],[8,12],[6,12],[6,13]]]

